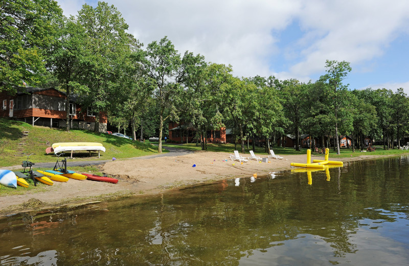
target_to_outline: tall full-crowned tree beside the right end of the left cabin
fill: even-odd
[[[94,131],[98,132],[100,111],[108,109],[110,100],[115,98],[115,88],[124,73],[123,62],[135,40],[126,33],[128,25],[121,13],[105,2],[98,2],[96,8],[83,5],[77,19],[88,39],[83,60],[85,83],[80,94],[85,106],[95,113]]]

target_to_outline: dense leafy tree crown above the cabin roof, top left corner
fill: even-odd
[[[46,73],[62,10],[53,0],[4,0],[0,5],[0,92],[36,85]]]

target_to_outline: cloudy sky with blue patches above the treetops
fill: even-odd
[[[97,1],[57,0],[64,15]],[[348,61],[350,88],[409,94],[409,1],[108,0],[146,46],[164,36],[183,54],[231,64],[234,75],[315,81]]]

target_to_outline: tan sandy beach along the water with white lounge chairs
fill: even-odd
[[[266,157],[265,154],[256,154]],[[313,159],[323,156],[311,154]],[[330,158],[345,162],[361,161],[389,156]],[[233,162],[226,152],[196,151],[174,157],[147,159],[123,159],[100,165],[102,172],[119,179],[117,184],[90,180],[54,182],[42,191],[19,195],[1,196],[0,217],[20,212],[63,208],[72,205],[108,201],[129,196],[154,195],[201,183],[219,182],[225,179],[250,177],[256,173],[265,176],[270,172],[294,169],[290,162],[305,162],[306,155],[284,156],[284,159],[268,159],[270,163],[256,160]],[[227,161],[225,161],[227,160]],[[193,165],[195,165],[193,167]]]

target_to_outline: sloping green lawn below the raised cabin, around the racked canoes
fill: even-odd
[[[47,154],[46,148],[56,142],[99,142],[104,145],[106,151],[92,152],[89,157],[88,151],[74,151],[75,161],[111,160],[140,157],[157,153],[157,148],[149,143],[131,141],[105,133],[95,133],[87,130],[71,130],[32,126],[28,123],[11,121],[0,118],[0,167],[18,165],[27,157],[18,156],[21,153],[35,153],[30,156],[32,162],[55,162],[57,157],[54,153]],[[26,139],[22,138],[22,132],[29,131]],[[50,145],[46,143],[49,142]],[[23,145],[19,145],[23,144]],[[17,155],[17,156],[16,156]],[[65,153],[66,157],[71,152]]]

